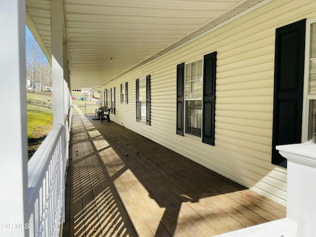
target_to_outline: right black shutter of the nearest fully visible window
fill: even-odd
[[[212,146],[215,145],[216,55],[216,51],[204,55],[203,68],[202,142]]]

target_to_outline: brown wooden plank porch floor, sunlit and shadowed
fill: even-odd
[[[63,237],[210,237],[286,207],[115,122],[74,115]]]

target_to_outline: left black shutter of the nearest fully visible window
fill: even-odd
[[[183,136],[184,63],[177,65],[177,134]]]

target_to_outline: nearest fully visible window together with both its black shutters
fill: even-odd
[[[177,65],[176,133],[215,146],[217,52]]]

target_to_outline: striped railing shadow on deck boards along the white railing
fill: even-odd
[[[136,236],[106,171],[80,121],[73,121],[70,210],[63,237]],[[133,234],[134,233],[134,234]]]

